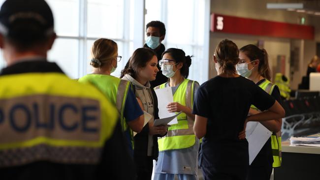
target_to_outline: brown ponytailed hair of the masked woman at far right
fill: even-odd
[[[256,45],[248,44],[240,48],[240,51],[243,52],[250,61],[259,60],[259,75],[271,81],[268,53],[265,49],[259,49]]]

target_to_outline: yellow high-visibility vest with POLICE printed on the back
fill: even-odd
[[[99,90],[56,72],[3,75],[0,85],[0,166],[100,162],[118,114]]]

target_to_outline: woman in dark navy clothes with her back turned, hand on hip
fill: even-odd
[[[193,131],[202,138],[199,165],[205,180],[246,180],[249,168],[248,121],[266,121],[285,116],[274,97],[237,74],[239,50],[228,39],[221,41],[213,58],[218,76],[196,92]],[[262,113],[249,115],[251,105]]]

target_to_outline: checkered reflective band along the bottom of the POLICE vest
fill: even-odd
[[[0,150],[0,167],[24,165],[41,160],[65,164],[97,164],[101,153],[101,148],[55,147],[41,144],[28,148]]]

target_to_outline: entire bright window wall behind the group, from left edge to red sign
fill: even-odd
[[[0,4],[3,1],[0,0]],[[142,47],[146,23],[153,20],[160,20],[166,26],[163,41],[166,49],[181,48],[186,55],[194,56],[189,78],[200,83],[208,78],[204,8],[210,0],[46,1],[53,11],[58,35],[48,59],[57,62],[71,78],[79,78],[92,71],[91,47],[98,38],[117,42],[118,54],[123,58],[112,75],[119,77],[134,48]],[[145,16],[142,13],[143,3]],[[145,24],[142,23],[143,18]],[[1,59],[2,56],[0,68],[5,65]]]

